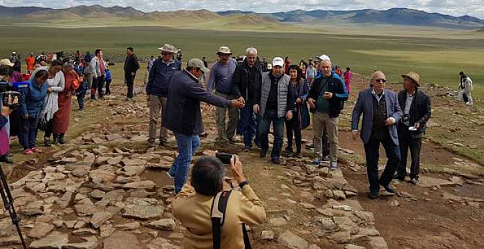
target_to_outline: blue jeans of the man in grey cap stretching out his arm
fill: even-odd
[[[175,193],[178,194],[183,185],[187,183],[188,169],[192,163],[192,156],[200,147],[200,138],[197,136],[187,136],[180,133],[175,134],[178,156],[171,165],[168,174],[175,176]]]

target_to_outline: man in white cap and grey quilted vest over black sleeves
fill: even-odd
[[[272,60],[272,71],[262,74],[261,91],[257,93],[257,104],[254,112],[260,113],[259,138],[261,142],[261,158],[266,157],[269,149],[269,128],[274,127],[274,146],[270,153],[272,163],[279,164],[284,137],[284,120],[292,119],[295,111],[294,91],[289,87],[290,77],[284,74],[284,60],[275,57]]]

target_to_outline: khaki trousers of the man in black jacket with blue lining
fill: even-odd
[[[329,157],[331,162],[338,160],[338,118],[331,118],[328,113],[313,113],[313,133],[315,143],[315,158],[322,159],[323,145],[322,136],[323,130],[329,136]]]

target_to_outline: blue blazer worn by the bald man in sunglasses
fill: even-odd
[[[364,89],[358,93],[358,100],[353,108],[353,115],[351,116],[351,130],[357,131],[360,123],[360,116],[363,114],[362,131],[360,136],[364,144],[368,143],[371,138],[371,131],[373,130],[373,89]],[[384,90],[382,98],[387,103],[387,117],[395,120],[395,124],[389,127],[390,137],[398,145],[398,122],[402,119],[402,109],[398,103],[397,93]]]

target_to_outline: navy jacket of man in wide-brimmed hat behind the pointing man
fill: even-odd
[[[149,71],[146,94],[167,97],[171,76],[180,70],[181,63],[176,59],[168,63],[163,62],[162,59],[156,59]]]

